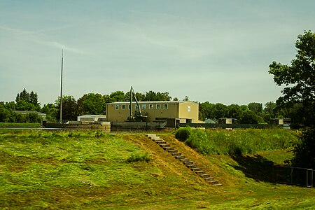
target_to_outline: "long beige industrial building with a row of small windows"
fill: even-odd
[[[139,102],[142,116],[147,116],[146,122],[156,122],[176,118],[186,123],[198,122],[199,104],[189,101],[167,102]],[[132,102],[132,114],[137,108],[137,103]],[[114,102],[106,104],[106,118],[110,122],[124,122],[130,117],[130,102]]]

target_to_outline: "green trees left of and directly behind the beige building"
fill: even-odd
[[[154,92],[152,90],[146,93],[136,92],[136,97],[142,102],[152,101],[170,101],[172,97],[169,92]],[[174,101],[178,100],[176,97]],[[60,116],[60,97],[54,103],[45,104],[43,107],[38,102],[38,94],[27,90],[17,94],[15,102],[0,102],[0,122],[3,123],[37,123],[38,120],[29,120],[20,113],[14,111],[40,111],[47,115],[50,121],[59,120]],[[106,115],[106,104],[112,102],[129,102],[130,92],[116,91],[111,94],[88,93],[76,100],[71,95],[62,97],[62,118],[65,120],[76,120],[77,116],[82,115]],[[33,115],[34,113],[31,113]],[[28,116],[29,114],[27,114]],[[22,119],[25,118],[25,119]]]

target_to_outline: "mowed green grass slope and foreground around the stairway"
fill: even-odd
[[[172,134],[164,136],[176,143]],[[265,165],[290,158],[289,150],[242,157],[191,153],[214,166],[212,173],[223,186],[210,186],[144,134],[2,131],[0,208],[315,207],[313,188],[274,184],[264,175]]]

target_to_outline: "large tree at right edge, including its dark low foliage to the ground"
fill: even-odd
[[[269,73],[276,85],[285,85],[283,96],[276,101],[279,106],[300,104],[301,125],[308,127],[302,132],[301,141],[295,146],[293,165],[315,167],[315,34],[304,31],[297,36],[297,55],[290,65],[272,62]]]

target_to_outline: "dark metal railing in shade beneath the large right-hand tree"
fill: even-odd
[[[314,186],[314,170],[297,167],[272,167],[272,179],[276,183],[286,183],[296,186]]]

